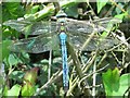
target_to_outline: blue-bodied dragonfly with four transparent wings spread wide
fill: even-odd
[[[17,40],[11,46],[11,50],[15,52],[26,51],[30,53],[40,53],[49,50],[62,51],[62,64],[63,64],[63,86],[64,90],[68,90],[69,74],[67,64],[67,46],[66,42],[73,44],[74,48],[80,50],[80,47],[89,38],[93,30],[98,33],[105,30],[108,22],[112,24],[118,23],[119,20],[101,20],[93,21],[77,21],[68,19],[64,11],[60,11],[56,14],[56,22],[29,22],[26,20],[10,20],[4,22],[3,25],[10,26],[18,32],[28,35],[38,35],[36,37],[25,38]],[[107,22],[105,22],[107,21]],[[94,27],[93,27],[94,24]],[[107,37],[100,42],[100,38],[93,37],[89,42],[84,51],[92,51],[95,49],[104,50],[108,49],[119,41],[113,37]]]

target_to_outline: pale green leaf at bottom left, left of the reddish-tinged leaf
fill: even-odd
[[[14,85],[10,90],[8,90],[8,96],[13,96],[13,98],[17,98],[20,96],[21,85]]]

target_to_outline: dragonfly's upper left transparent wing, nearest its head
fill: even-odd
[[[49,32],[56,30],[55,22],[29,22],[25,20],[10,20],[3,23],[5,26],[10,26],[11,28],[16,29],[17,32],[22,32],[23,34],[28,35],[41,35]]]

